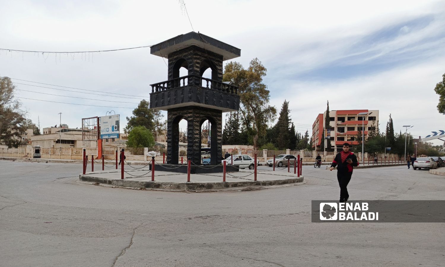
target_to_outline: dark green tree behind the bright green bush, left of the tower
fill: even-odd
[[[133,115],[134,116],[126,117],[128,121],[126,126],[127,132],[129,132],[131,127],[136,126],[144,126],[152,131],[153,134],[155,134],[155,131],[157,131],[158,134],[162,134],[162,130],[165,129],[165,121],[162,121],[164,115],[162,115],[160,110],[150,109],[150,103],[145,99],[141,100],[138,107],[133,110]]]

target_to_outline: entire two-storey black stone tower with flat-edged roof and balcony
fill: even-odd
[[[168,80],[151,85],[150,108],[167,111],[167,164],[178,164],[179,121],[187,121],[187,158],[201,165],[201,126],[209,120],[210,165],[221,163],[223,112],[239,110],[238,88],[223,82],[223,61],[241,49],[189,32],[150,47],[168,59]],[[179,77],[184,67],[188,75]],[[206,69],[212,78],[203,78]]]

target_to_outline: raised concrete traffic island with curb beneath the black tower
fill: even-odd
[[[303,176],[297,177],[293,173],[276,174],[272,171],[258,171],[257,181],[254,181],[253,170],[243,170],[227,173],[226,182],[223,182],[223,174],[192,174],[190,182],[186,182],[187,174],[155,170],[155,181],[151,181],[151,171],[144,168],[144,170],[125,170],[124,179],[121,179],[120,171],[105,170],[81,174],[79,180],[130,188],[202,191],[299,183],[303,182]]]

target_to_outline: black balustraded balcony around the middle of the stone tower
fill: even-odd
[[[202,106],[223,112],[239,110],[238,87],[221,81],[188,75],[150,86],[152,109]]]

